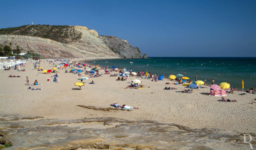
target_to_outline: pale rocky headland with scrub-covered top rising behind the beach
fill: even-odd
[[[141,58],[138,47],[113,36],[99,36],[84,26],[34,25],[0,29],[0,44],[19,45],[45,58],[86,59]]]

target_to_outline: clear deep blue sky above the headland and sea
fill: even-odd
[[[148,56],[256,57],[255,0],[0,0],[0,6],[0,28],[78,25],[125,39]]]

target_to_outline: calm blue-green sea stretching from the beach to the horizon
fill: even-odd
[[[106,59],[89,61],[101,66],[115,66],[132,71],[148,71],[156,75],[182,74],[191,80],[211,78],[216,84],[230,82],[231,87],[241,89],[256,86],[256,57],[149,57],[148,59]]]

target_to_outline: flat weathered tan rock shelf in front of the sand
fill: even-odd
[[[218,129],[113,117],[60,120],[4,114],[0,143],[2,148],[12,145],[6,149],[250,149],[243,133]]]

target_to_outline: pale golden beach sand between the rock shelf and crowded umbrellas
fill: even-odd
[[[44,69],[52,64],[41,63]],[[220,97],[209,96],[209,86],[195,89],[194,93],[176,93],[185,88],[181,85],[166,85],[169,80],[152,82],[140,79],[145,89],[125,89],[133,79],[117,81],[117,77],[97,77],[84,80],[81,90],[73,90],[76,74],[58,70],[59,82],[51,82],[52,75],[32,70],[33,63],[20,67],[26,71],[0,71],[0,114],[19,114],[21,116],[42,116],[51,119],[82,119],[85,117],[116,117],[127,120],[154,120],[160,123],[175,123],[190,128],[219,128],[227,131],[256,133],[256,103],[251,103],[256,94],[241,95],[240,91],[228,94],[225,98],[238,102],[219,102]],[[100,70],[103,71],[103,70]],[[116,72],[117,73],[117,72]],[[113,73],[111,73],[113,74]],[[19,75],[11,78],[9,75]],[[32,91],[25,85],[26,76],[30,84],[38,80],[43,90]],[[82,73],[81,77],[89,77]],[[50,79],[50,81],[47,81]],[[95,84],[88,84],[89,82]],[[173,83],[173,82],[172,82]],[[176,87],[164,90],[164,87]],[[78,87],[79,88],[79,87]],[[139,107],[132,111],[100,111],[77,107],[77,105],[110,107],[116,102]]]

